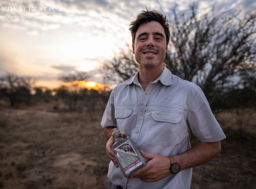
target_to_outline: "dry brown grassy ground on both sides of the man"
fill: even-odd
[[[107,188],[102,114],[54,111],[52,103],[0,107],[0,188]],[[256,188],[256,113],[243,140],[229,112],[218,118],[227,136],[222,151],[193,169],[191,188]]]

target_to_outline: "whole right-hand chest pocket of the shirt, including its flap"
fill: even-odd
[[[149,143],[161,146],[175,144],[181,119],[179,112],[152,111],[147,131]]]

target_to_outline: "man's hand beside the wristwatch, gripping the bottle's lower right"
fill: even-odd
[[[157,154],[149,154],[142,150],[140,153],[144,158],[148,158],[150,160],[147,162],[146,166],[130,175],[128,179],[136,177],[143,182],[157,182],[171,175],[171,171],[169,169],[171,163],[169,158]]]

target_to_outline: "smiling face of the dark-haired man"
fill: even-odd
[[[167,45],[162,25],[156,21],[141,25],[136,31],[132,50],[139,66],[144,68],[163,66]]]

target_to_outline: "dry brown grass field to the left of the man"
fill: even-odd
[[[0,188],[106,188],[102,112],[0,111]]]

